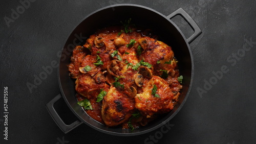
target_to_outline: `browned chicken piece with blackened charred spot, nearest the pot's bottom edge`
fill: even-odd
[[[129,121],[134,109],[134,100],[111,86],[102,101],[102,118],[107,126],[117,126]]]

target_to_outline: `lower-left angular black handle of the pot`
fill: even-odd
[[[66,125],[62,119],[60,118],[60,116],[58,115],[58,113],[56,112],[56,110],[54,109],[53,105],[60,99],[62,98],[60,94],[58,94],[55,98],[53,98],[49,103],[46,104],[46,108],[48,110],[48,112],[50,113],[50,115],[52,116],[53,120],[55,121],[55,123],[59,126],[59,128],[64,132],[64,133],[68,133],[69,131],[73,130],[74,128],[78,127],[79,125],[82,124],[82,122],[80,121],[75,121],[74,123],[70,124],[70,125]]]

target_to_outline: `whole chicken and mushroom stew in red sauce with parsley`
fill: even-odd
[[[78,104],[92,118],[134,130],[174,108],[182,77],[172,47],[130,21],[98,30],[76,46],[69,71]]]

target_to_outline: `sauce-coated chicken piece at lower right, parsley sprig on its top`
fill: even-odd
[[[153,76],[149,81],[145,80],[142,90],[135,97],[135,107],[147,118],[173,109],[174,94],[162,78]]]

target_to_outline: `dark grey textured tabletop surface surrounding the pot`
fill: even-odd
[[[255,1],[35,1],[7,26],[19,1],[0,6],[0,143],[144,143],[160,129],[133,137],[100,133],[82,124],[64,134],[45,104],[60,93],[57,68],[30,91],[27,83],[59,61],[57,53],[83,17],[111,4],[139,4],[168,15],[183,8],[203,33],[190,44],[195,62],[194,83],[181,111],[169,122],[173,127],[158,143],[255,143],[256,142],[256,2]],[[22,9],[20,9],[22,10]],[[152,17],[154,18],[154,17]],[[183,19],[173,21],[185,36],[191,30]],[[246,40],[253,43],[250,45]],[[242,53],[242,49],[251,48]],[[240,57],[232,58],[237,52]],[[230,61],[228,61],[228,59]],[[236,63],[235,63],[236,62]],[[228,72],[201,96],[205,81],[225,65]],[[3,139],[4,86],[9,92],[8,141]],[[1,94],[2,93],[2,94]],[[62,101],[57,109],[67,111]],[[65,114],[63,114],[65,118]],[[67,116],[66,116],[67,117]],[[69,117],[73,117],[71,114]],[[71,119],[72,119],[71,118]],[[68,119],[67,121],[71,121]],[[72,121],[71,121],[72,122]],[[68,122],[69,123],[69,122]],[[63,141],[64,140],[64,141]],[[148,140],[147,142],[152,142]]]

